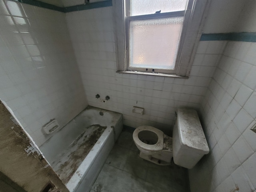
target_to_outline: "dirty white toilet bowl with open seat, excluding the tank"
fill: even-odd
[[[133,132],[133,140],[140,157],[158,165],[168,165],[172,160],[172,138],[152,126],[140,126]]]

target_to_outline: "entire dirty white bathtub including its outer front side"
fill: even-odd
[[[40,146],[70,192],[87,192],[122,131],[122,114],[88,106]]]

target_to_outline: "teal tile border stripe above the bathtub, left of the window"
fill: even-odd
[[[88,9],[102,8],[112,6],[112,0],[100,1],[95,3],[81,4],[70,7],[59,7],[52,4],[44,3],[38,0],[12,0],[20,3],[25,3],[33,6],[38,6],[41,8],[46,8],[54,11],[59,11],[63,13],[73,12],[73,11],[82,11]]]

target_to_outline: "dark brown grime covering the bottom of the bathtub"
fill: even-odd
[[[56,171],[60,176],[60,179],[64,184],[67,184],[73,174],[76,172],[84,158],[90,152],[94,144],[96,144],[97,140],[100,138],[104,130],[107,128],[106,126],[100,126],[99,124],[92,125],[90,128],[93,128],[94,131],[89,135],[84,135],[84,132],[74,140],[74,142],[70,145],[74,147],[76,145],[77,148],[73,152],[68,155],[68,160],[62,162]],[[81,140],[82,138],[82,140]],[[78,174],[80,176],[82,174]]]

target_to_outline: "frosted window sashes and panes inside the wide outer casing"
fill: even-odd
[[[187,0],[126,0],[127,70],[175,70],[186,5]]]

